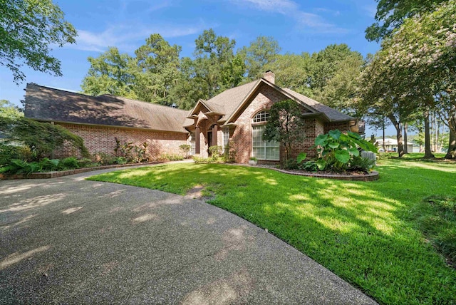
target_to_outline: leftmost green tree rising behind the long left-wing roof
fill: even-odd
[[[90,68],[83,78],[83,93],[90,95],[112,94],[137,98],[134,91],[134,62],[118,48],[110,47],[97,58],[89,57]]]

